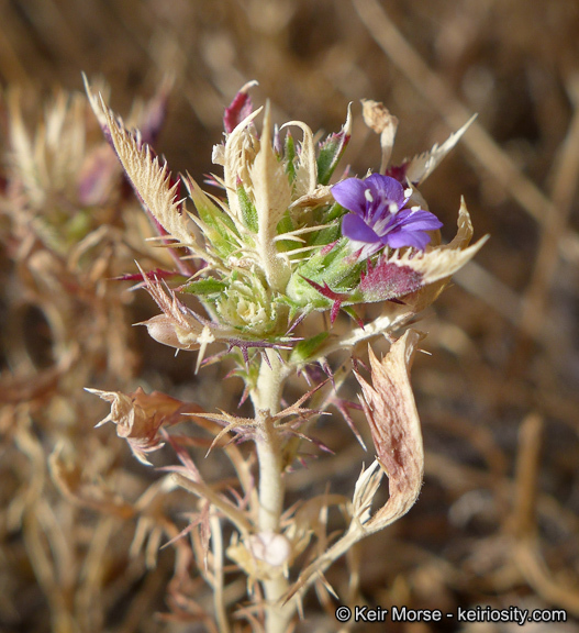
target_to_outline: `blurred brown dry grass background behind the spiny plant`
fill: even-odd
[[[492,237],[420,322],[432,353],[413,373],[425,484],[402,521],[354,553],[359,577],[346,578],[339,565],[330,571],[354,603],[448,612],[476,604],[560,608],[566,624],[527,630],[579,631],[578,31],[572,0],[0,2],[4,95],[19,86],[26,108],[40,112],[56,87],[79,91],[85,70],[105,78],[114,109],[126,114],[135,97],[152,97],[170,74],[156,148],[174,170],[196,178],[211,169],[223,107],[249,79],[259,81],[254,102],[271,99],[277,121],[303,120],[314,130],[338,130],[354,101],[346,160],[358,174],[379,165],[360,98],[383,101],[400,119],[394,160],[443,141],[478,112],[424,195],[446,237],[461,195],[476,234]],[[7,158],[5,108],[2,119]],[[8,191],[8,158],[4,164]],[[155,615],[168,612],[175,553],[164,549],[146,569],[154,529],[148,555],[146,545],[140,552],[133,543],[133,556],[130,548],[135,524],[148,534],[160,515],[134,510],[156,475],[134,463],[112,427],[92,430],[104,409],[81,388],[143,385],[205,407],[235,407],[238,386],[222,382],[213,367],[194,377],[193,355],[174,360],[170,349],[130,327],[154,309],[108,279],[134,271],[137,255],[154,259],[126,245],[123,231],[134,224],[107,212],[93,219],[94,230],[98,222],[113,227],[96,242],[92,267],[71,280],[55,269],[66,268],[66,257],[46,259],[7,207],[3,201],[0,215],[0,630],[202,630],[179,622],[183,601],[169,598],[174,617]],[[55,333],[60,321],[65,332]],[[292,495],[323,489],[329,479],[333,490],[352,489],[364,459],[352,433],[335,417],[320,436],[337,456],[298,470]],[[71,455],[82,486],[104,482],[100,506],[79,507],[57,489],[48,468],[55,447]],[[163,512],[186,508],[183,497],[171,498]],[[192,580],[181,590],[181,600],[187,591],[204,599]],[[337,630],[316,604],[308,600],[300,630]],[[388,630],[515,628],[443,624]]]

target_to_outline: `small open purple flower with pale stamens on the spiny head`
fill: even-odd
[[[443,225],[430,211],[407,208],[412,190],[404,189],[390,176],[372,174],[365,180],[348,178],[334,185],[332,195],[350,211],[342,220],[342,234],[363,248],[364,257],[383,246],[413,246],[424,251],[431,241],[426,231]]]

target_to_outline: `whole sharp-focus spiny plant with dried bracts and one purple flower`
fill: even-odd
[[[376,460],[368,468],[360,465],[352,499],[324,495],[298,508],[285,507],[286,478],[299,458],[300,444],[312,440],[315,419],[338,401],[335,392],[348,374],[348,362],[332,373],[329,357],[352,354],[378,336],[392,342],[393,333],[439,295],[482,241],[468,246],[472,229],[463,204],[456,237],[441,245],[442,224],[417,190],[466,126],[442,146],[389,167],[398,122],[380,103],[365,101],[365,121],[380,134],[382,165],[366,178],[343,177],[332,186],[352,133],[349,109],[343,129],[318,142],[305,123],[272,126],[268,104],[253,110],[250,87],[245,86],[225,110],[224,142],[213,151],[213,163],[222,168],[210,182],[219,188],[216,193],[203,191],[189,175],[171,177],[140,133],[127,131],[88,84],[87,92],[126,177],[158,227],[159,242],[175,255],[177,269],[164,271],[163,281],[159,271],[142,270],[143,286],[160,309],[144,323],[148,333],[176,349],[197,351],[198,369],[224,356],[233,358],[233,374],[245,385],[242,399],[250,399],[254,415],[203,413],[158,393],[91,391],[112,403],[105,421],[118,424],[119,435],[129,440],[142,462],[147,463],[148,453],[163,442],[177,451],[182,466],[172,468],[171,481],[200,500],[189,530],[199,530],[208,547],[211,534],[211,559],[208,563],[205,556],[198,563],[213,588],[218,628],[230,630],[233,611],[224,597],[221,560],[222,523],[229,521],[233,532],[226,556],[246,574],[253,601],[252,608],[240,607],[237,615],[268,632],[282,632],[308,588],[324,582],[332,562],[405,513],[422,481],[422,441],[409,370],[423,335],[408,330],[382,360],[369,349],[370,382],[355,369]],[[298,127],[301,141],[289,127]],[[181,185],[194,210],[180,198]],[[204,312],[188,306],[188,295],[197,297]],[[365,321],[361,307],[378,302],[378,315]],[[335,323],[341,311],[347,327]],[[311,335],[302,322],[311,318],[320,323],[314,316],[320,312],[329,319]],[[314,376],[310,369],[315,366],[329,379],[287,404],[288,379]],[[240,480],[234,497],[204,481],[179,436],[165,430],[179,421],[186,424],[181,413],[187,411],[191,423],[213,431],[212,448],[222,447],[232,460]],[[234,442],[225,442],[225,436]],[[236,446],[242,441],[253,443],[255,453],[241,453]],[[389,500],[371,512],[385,474]],[[331,504],[341,508],[348,526],[327,545],[323,517]],[[303,564],[298,557],[307,549]]]

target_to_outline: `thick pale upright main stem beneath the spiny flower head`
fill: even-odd
[[[280,409],[281,391],[286,371],[277,353],[266,351],[269,364],[261,360],[257,385],[252,391],[255,418],[258,422],[256,435],[259,463],[259,532],[280,532],[283,511],[285,481],[281,454],[281,438],[275,427],[272,415]],[[288,589],[288,581],[281,574],[263,580],[266,597],[267,633],[285,633],[294,613],[294,602],[280,603]]]

